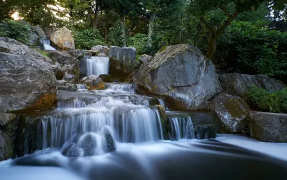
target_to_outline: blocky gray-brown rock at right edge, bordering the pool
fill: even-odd
[[[259,141],[287,143],[287,114],[250,112],[250,135]]]

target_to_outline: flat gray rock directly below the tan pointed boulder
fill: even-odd
[[[64,51],[50,51],[49,57],[60,64],[74,64],[76,57]]]

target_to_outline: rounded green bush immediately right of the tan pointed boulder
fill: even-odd
[[[104,44],[104,39],[101,37],[100,32],[94,28],[76,32],[74,39],[78,49],[91,49],[93,46]]]

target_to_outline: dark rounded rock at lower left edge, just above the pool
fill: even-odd
[[[0,161],[15,157],[15,146],[12,138],[0,130]]]

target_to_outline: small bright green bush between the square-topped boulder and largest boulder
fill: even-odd
[[[137,53],[146,53],[146,46],[148,46],[148,36],[144,34],[137,34],[134,37],[128,39],[128,46],[132,46],[137,49]]]

